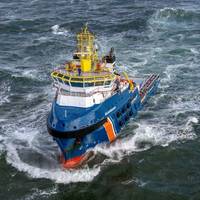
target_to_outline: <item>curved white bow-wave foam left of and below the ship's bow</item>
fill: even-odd
[[[29,120],[30,119],[31,118],[29,117]],[[24,119],[22,119],[22,122],[23,120]],[[38,128],[27,127],[27,125],[20,128],[15,124],[3,125],[2,128],[5,130],[5,135],[1,136],[0,141],[3,141],[7,153],[7,162],[19,171],[26,172],[30,177],[51,179],[57,183],[87,182],[91,181],[100,172],[100,167],[96,166],[93,168],[84,166],[84,168],[70,171],[62,169],[55,156],[51,157],[57,153],[54,149],[55,143],[51,140],[50,136],[49,138],[46,138],[46,136],[41,135]],[[51,147],[48,147],[48,150],[44,150],[43,148],[43,152],[41,152],[41,145],[49,146],[49,144],[51,144],[48,139],[49,141],[52,141],[52,149]],[[47,142],[48,144],[44,144],[44,142]],[[26,149],[38,152],[40,155],[43,155],[44,158],[49,158],[49,160],[57,163],[57,167],[52,168],[50,166],[49,168],[41,168],[40,163],[38,163],[37,160],[35,160],[35,165],[32,164],[34,162],[27,163],[22,160],[20,155],[21,150],[26,152]]]

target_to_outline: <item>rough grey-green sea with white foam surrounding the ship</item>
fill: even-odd
[[[46,129],[50,72],[86,22],[100,53],[161,84],[118,140],[67,171]],[[199,200],[199,86],[199,0],[1,0],[0,199]]]

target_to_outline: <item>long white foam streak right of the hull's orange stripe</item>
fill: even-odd
[[[166,147],[170,143],[179,140],[192,140],[197,136],[193,131],[192,123],[198,123],[196,117],[189,117],[185,126],[173,127],[161,121],[159,124],[148,124],[141,122],[138,128],[133,131],[133,135],[118,139],[111,145],[98,145],[95,153],[101,153],[108,157],[104,162],[119,162],[125,155],[135,152],[145,151],[152,146]],[[131,133],[130,133],[131,134]]]

